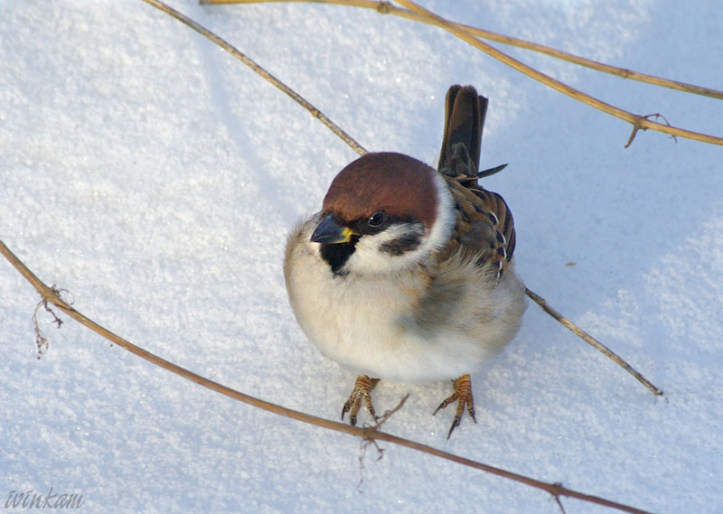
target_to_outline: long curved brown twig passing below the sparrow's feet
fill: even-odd
[[[209,388],[212,391],[221,393],[224,396],[234,398],[236,400],[239,400],[242,403],[248,404],[253,407],[258,407],[258,408],[264,409],[268,412],[271,412],[271,413],[274,413],[274,414],[277,414],[280,416],[286,416],[286,417],[290,417],[292,419],[296,419],[297,421],[301,421],[301,422],[307,423],[309,425],[321,426],[323,428],[328,428],[330,430],[342,432],[343,434],[355,435],[357,437],[362,437],[362,439],[365,439],[365,440],[387,441],[388,443],[399,444],[400,446],[404,446],[411,450],[416,450],[421,453],[427,453],[429,455],[434,455],[436,457],[446,459],[447,461],[452,461],[454,463],[463,464],[465,466],[469,466],[476,470],[492,473],[493,475],[496,475],[496,476],[499,476],[499,477],[502,477],[502,478],[505,478],[505,479],[508,479],[511,481],[517,481],[517,482],[523,483],[525,485],[528,485],[535,489],[539,489],[541,491],[547,491],[553,497],[566,496],[568,498],[576,498],[577,500],[584,500],[584,501],[588,501],[590,503],[596,503],[597,505],[603,505],[603,506],[609,507],[611,509],[618,509],[618,510],[622,510],[624,512],[631,512],[633,514],[651,514],[647,510],[635,509],[634,507],[630,507],[628,505],[624,505],[624,504],[618,503],[616,501],[606,500],[604,498],[586,494],[584,492],[574,491],[574,490],[562,487],[559,483],[548,483],[545,481],[535,480],[535,479],[532,479],[530,477],[527,477],[527,476],[524,476],[524,475],[521,475],[521,474],[518,474],[515,472],[508,472],[507,470],[503,470],[502,468],[497,468],[497,467],[491,466],[489,464],[479,463],[477,461],[473,461],[472,459],[460,457],[459,455],[455,455],[454,453],[444,452],[444,451],[438,450],[437,448],[434,448],[432,446],[427,446],[427,444],[419,444],[414,441],[404,439],[403,437],[399,437],[397,435],[391,435],[386,432],[380,432],[379,430],[376,429],[375,426],[368,426],[368,427],[360,428],[357,426],[339,423],[337,421],[330,421],[328,419],[324,419],[323,417],[311,416],[311,415],[308,415],[303,412],[299,412],[299,411],[296,411],[296,410],[293,410],[290,408],[281,407],[281,406],[278,406],[271,402],[268,402],[266,400],[262,400],[257,397],[251,397],[251,396],[244,394],[240,391],[237,391],[235,389],[228,388],[226,386],[219,384],[218,382],[214,382],[213,380],[202,377],[201,375],[197,375],[196,373],[193,373],[192,371],[190,371],[188,369],[182,368],[181,366],[174,364],[170,360],[162,359],[161,357],[158,357],[157,355],[151,353],[150,351],[144,350],[143,348],[136,346],[132,342],[127,341],[126,339],[123,339],[119,335],[108,331],[108,329],[106,329],[99,323],[94,322],[89,317],[80,313],[79,311],[74,309],[70,304],[65,302],[65,300],[63,300],[61,298],[61,296],[57,293],[57,291],[54,288],[48,287],[47,285],[45,285],[42,282],[42,280],[40,278],[35,276],[35,274],[27,266],[25,266],[18,257],[16,257],[14,255],[14,253],[10,250],[10,248],[7,248],[5,246],[5,243],[2,240],[0,240],[0,254],[3,255],[10,262],[10,264],[12,264],[14,266],[14,268],[28,282],[30,282],[31,285],[33,285],[33,287],[38,291],[38,293],[40,293],[40,295],[42,297],[42,301],[47,301],[47,302],[55,305],[63,313],[66,313],[75,321],[80,322],[80,324],[82,324],[85,327],[88,327],[91,331],[99,333],[101,336],[106,338],[108,341],[111,341],[111,342],[117,344],[119,347],[123,348],[124,350],[130,351],[131,353],[137,355],[141,359],[147,360],[148,362],[151,362],[151,363],[155,364],[156,366],[159,366],[160,368],[171,371],[172,373],[175,373],[176,375],[178,375],[180,377],[191,380],[192,382],[195,382],[196,384],[199,384],[200,386],[202,386],[204,388]]]

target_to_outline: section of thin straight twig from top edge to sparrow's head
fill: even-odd
[[[185,16],[178,11],[176,11],[173,7],[170,7],[168,5],[165,5],[163,2],[158,2],[157,0],[143,0],[143,2],[146,2],[146,4],[153,5],[156,9],[159,9],[163,11],[165,14],[168,14],[169,16],[174,17],[179,22],[191,27],[194,31],[197,33],[202,34],[203,36],[210,39],[212,42],[215,42],[217,45],[219,45],[223,50],[228,51],[232,56],[234,56],[239,61],[246,64],[251,70],[254,70],[263,77],[264,79],[267,79],[269,82],[271,82],[274,86],[276,86],[278,89],[281,89],[286,95],[288,95],[290,98],[292,98],[296,103],[298,103],[301,107],[304,107],[307,111],[311,113],[313,117],[321,121],[327,128],[329,128],[336,136],[339,136],[343,139],[343,141],[350,145],[356,152],[359,154],[366,154],[367,151],[364,149],[362,145],[357,143],[352,136],[349,136],[346,132],[342,130],[342,128],[338,125],[336,125],[331,119],[326,117],[322,111],[311,105],[308,101],[306,101],[304,98],[301,97],[294,89],[289,88],[284,84],[281,80],[274,77],[271,73],[269,73],[267,70],[264,70],[261,66],[258,65],[256,61],[253,61],[249,58],[245,53],[242,51],[239,51],[236,47],[230,44],[230,42],[225,41],[221,37],[217,36],[216,34],[212,33],[210,30],[203,27],[201,24],[194,22],[191,18],[188,16]]]

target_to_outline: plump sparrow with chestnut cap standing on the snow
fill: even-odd
[[[404,154],[365,154],[336,175],[322,210],[292,230],[289,302],[306,337],[359,375],[343,404],[372,417],[380,379],[452,379],[447,439],[474,423],[470,373],[511,341],[526,309],[515,275],[512,212],[478,180],[487,98],[452,86],[438,169]],[[505,164],[506,165],[506,164]]]

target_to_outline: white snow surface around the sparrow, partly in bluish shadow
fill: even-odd
[[[452,19],[723,88],[716,0],[426,0]],[[173,5],[371,150],[434,163],[453,83],[491,98],[485,182],[512,207],[521,277],[618,351],[531,305],[474,377],[478,425],[446,442],[448,383],[381,383],[385,430],[656,512],[723,510],[723,153],[641,132],[443,31],[322,5]],[[138,1],[0,1],[0,238],[75,306],[231,388],[337,419],[352,374],[296,325],[281,260],[355,154],[197,33]],[[723,134],[723,103],[505,49],[639,114]],[[0,505],[80,492],[83,512],[559,512],[541,491],[273,416],[68,320],[0,262]],[[568,266],[568,263],[575,263]],[[363,476],[361,485],[360,478]],[[563,500],[568,513],[609,509]],[[9,509],[12,510],[12,509]]]

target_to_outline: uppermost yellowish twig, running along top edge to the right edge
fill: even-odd
[[[307,4],[325,4],[325,5],[346,5],[352,7],[362,7],[364,9],[371,9],[377,11],[380,14],[392,14],[399,16],[400,18],[406,18],[415,22],[427,23],[429,25],[438,25],[434,20],[430,20],[426,16],[409,11],[396,5],[391,5],[390,2],[378,1],[378,0],[202,0],[202,4],[270,4],[270,3],[307,3]],[[652,84],[653,86],[660,86],[662,88],[677,89],[686,93],[692,93],[703,97],[723,99],[723,91],[713,88],[704,88],[696,86],[695,84],[689,84],[688,82],[681,82],[680,80],[665,79],[663,77],[656,77],[654,75],[648,75],[647,73],[641,73],[639,71],[628,70],[626,68],[619,68],[611,64],[604,62],[593,61],[585,57],[580,57],[574,53],[567,51],[561,51],[556,48],[551,48],[537,42],[530,42],[523,39],[515,38],[501,33],[493,33],[491,31],[485,31],[465,23],[455,23],[460,27],[465,28],[475,36],[502,42],[503,44],[509,44],[510,46],[516,46],[518,48],[524,48],[525,50],[537,51],[551,57],[555,57],[561,61],[572,62],[580,66],[585,66],[592,70],[602,71],[610,75],[615,75],[622,79],[637,80],[646,84]]]

